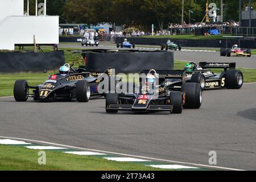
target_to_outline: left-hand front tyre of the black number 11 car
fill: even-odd
[[[26,102],[28,98],[27,80],[17,80],[14,84],[13,94],[17,102]]]

